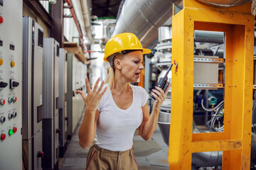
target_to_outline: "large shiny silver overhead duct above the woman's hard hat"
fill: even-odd
[[[172,16],[174,3],[181,5],[182,1],[124,1],[113,35],[126,32],[134,33],[142,42],[142,46],[148,47],[156,39],[157,29]]]

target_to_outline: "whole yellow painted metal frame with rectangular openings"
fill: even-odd
[[[223,169],[250,169],[254,16],[251,3],[230,8],[184,0],[172,21],[170,169],[191,169],[193,152],[223,151]],[[194,30],[225,32],[224,132],[193,134]]]

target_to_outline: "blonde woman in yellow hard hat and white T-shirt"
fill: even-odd
[[[78,93],[85,101],[85,115],[78,132],[79,144],[90,147],[86,169],[138,169],[134,159],[132,139],[135,130],[149,140],[156,130],[160,106],[166,98],[169,87],[164,92],[159,87],[151,93],[154,101],[149,116],[147,100],[149,95],[137,82],[144,69],[143,54],[151,50],[142,48],[139,39],[132,33],[121,33],[111,38],[105,46],[106,62],[110,62],[107,79],[97,79],[90,89],[86,78],[87,95]],[[107,90],[108,89],[108,90]]]

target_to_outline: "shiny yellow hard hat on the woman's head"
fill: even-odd
[[[133,33],[120,33],[110,38],[105,46],[105,56],[103,60],[110,62],[107,57],[112,57],[126,50],[142,50],[142,54],[149,54],[151,50],[142,48],[141,42]]]

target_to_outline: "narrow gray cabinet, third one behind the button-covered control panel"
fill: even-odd
[[[68,137],[68,115],[67,115],[67,59],[68,53],[65,49],[60,48],[60,82],[59,82],[59,128],[60,128],[60,157],[64,156],[66,149],[66,142]]]

